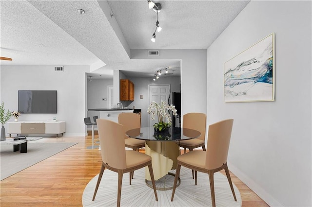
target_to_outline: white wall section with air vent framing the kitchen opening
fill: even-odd
[[[181,112],[207,113],[207,50],[160,50],[147,56],[147,50],[131,50],[131,59],[181,60]]]

